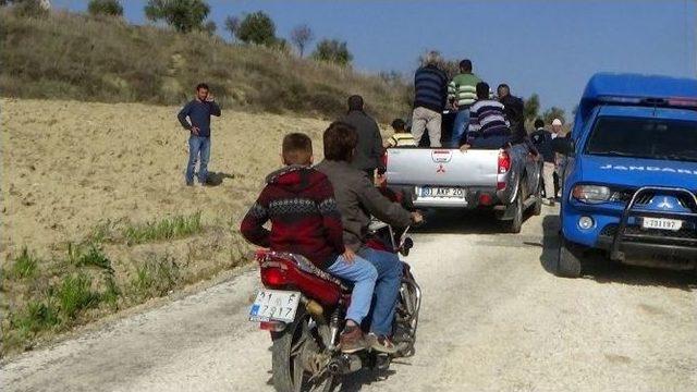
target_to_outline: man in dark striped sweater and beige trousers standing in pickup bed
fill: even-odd
[[[416,145],[421,142],[424,131],[428,130],[431,147],[440,147],[440,126],[448,95],[448,76],[438,68],[439,60],[438,52],[428,52],[426,65],[418,69],[414,75],[412,134]]]

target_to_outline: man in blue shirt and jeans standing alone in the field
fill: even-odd
[[[210,159],[210,117],[220,117],[220,107],[209,93],[208,85],[200,83],[196,86],[196,99],[186,103],[176,119],[182,126],[191,132],[188,137],[188,163],[186,166],[186,185],[194,185],[194,168],[200,156],[198,182],[206,185],[208,176],[208,160]],[[188,120],[187,120],[188,118]]]

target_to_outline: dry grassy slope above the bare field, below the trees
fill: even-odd
[[[383,122],[408,110],[399,83],[277,50],[68,13],[0,16],[8,97],[179,105],[206,81],[228,108],[333,118],[360,94]]]

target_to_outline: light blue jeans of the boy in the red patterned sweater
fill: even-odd
[[[378,271],[370,262],[358,256],[353,262],[346,262],[343,256],[339,256],[337,261],[327,268],[327,272],[353,282],[351,305],[346,309],[346,319],[360,324],[370,310],[370,301],[372,299],[375,281],[378,279]]]

